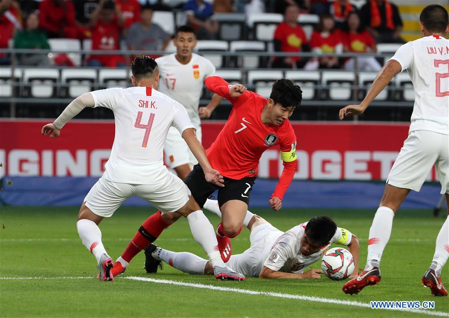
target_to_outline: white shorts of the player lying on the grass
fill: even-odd
[[[265,262],[262,259],[264,248],[267,244],[273,244],[282,234],[284,232],[276,229],[270,223],[257,226],[251,231],[249,237],[251,247],[242,254],[232,255],[226,265],[245,276],[259,277],[263,263]]]

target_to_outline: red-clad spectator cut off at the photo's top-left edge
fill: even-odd
[[[0,48],[8,48],[15,30],[22,29],[21,11],[17,1],[0,1]],[[9,55],[0,53],[0,65],[9,64]]]

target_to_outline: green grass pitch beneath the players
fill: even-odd
[[[114,282],[99,282],[95,259],[81,244],[76,232],[77,207],[1,208],[0,214],[0,317],[430,317],[449,312],[449,299],[433,297],[420,281],[434,254],[435,239],[444,217],[431,211],[402,210],[393,224],[385,250],[380,285],[359,295],[343,294],[343,282],[321,280],[261,280],[218,282],[211,276],[181,273],[168,265],[157,274],[143,270],[143,253],[136,256],[125,276]],[[120,208],[100,224],[103,243],[115,260],[151,208]],[[328,215],[361,241],[361,266],[367,255],[367,239],[374,210],[294,210],[274,212],[253,209],[281,230],[288,230],[316,215]],[[207,216],[215,226],[218,217]],[[185,219],[161,235],[156,243],[173,251],[188,251],[205,257],[193,240]],[[249,231],[232,240],[233,253],[249,246]],[[313,265],[319,268],[319,263]],[[197,286],[174,286],[160,282],[125,279],[137,276],[157,280],[203,284],[258,292],[300,295],[311,300],[248,295],[231,290]],[[5,279],[15,278],[15,279]],[[19,279],[22,278],[22,279]],[[28,279],[24,279],[28,278]],[[31,278],[31,279],[29,279]],[[449,287],[448,266],[443,283]],[[428,312],[374,310],[348,304],[326,304],[316,298],[355,301],[435,301]]]

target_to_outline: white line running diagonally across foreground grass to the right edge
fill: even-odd
[[[321,297],[313,297],[313,296],[281,294],[281,293],[271,293],[271,292],[258,292],[258,291],[240,289],[240,288],[229,288],[229,287],[221,287],[221,286],[214,286],[214,285],[204,285],[204,284],[196,284],[196,283],[185,283],[185,282],[179,282],[179,281],[159,280],[159,279],[137,277],[137,276],[129,276],[129,277],[123,277],[123,278],[128,279],[128,280],[150,282],[150,283],[156,283],[156,284],[168,284],[168,285],[175,285],[175,286],[194,287],[194,288],[208,289],[208,290],[214,290],[214,291],[220,291],[220,292],[233,292],[233,293],[240,293],[240,294],[247,294],[247,295],[261,295],[261,296],[287,298],[287,299],[300,300],[300,301],[309,301],[309,302],[315,302],[315,303],[336,304],[336,305],[342,305],[342,306],[354,306],[354,307],[362,307],[362,308],[371,309],[370,304],[367,304],[367,303],[353,302],[353,301],[342,301],[342,300],[331,299],[331,298],[321,298]],[[449,317],[449,314],[445,313],[445,312],[437,312],[437,311],[434,312],[434,311],[427,311],[427,310],[420,310],[420,309],[389,309],[389,310],[424,314],[424,315],[430,315],[430,316]]]

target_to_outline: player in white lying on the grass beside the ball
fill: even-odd
[[[221,217],[217,201],[204,207]],[[245,276],[260,278],[320,278],[321,270],[304,270],[320,260],[332,243],[348,246],[354,256],[357,276],[359,240],[348,230],[338,228],[331,218],[314,217],[309,222],[282,232],[263,218],[247,211],[245,226],[250,230],[251,246],[242,254],[232,255],[226,264]],[[155,245],[145,250],[145,269],[155,273],[163,261],[174,268],[190,273],[212,275],[210,261],[187,252],[171,252]]]

